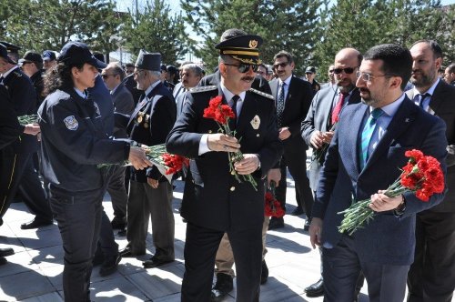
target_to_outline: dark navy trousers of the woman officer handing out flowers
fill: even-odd
[[[63,291],[66,302],[90,301],[90,275],[101,225],[101,190],[56,191],[50,202],[65,250]]]

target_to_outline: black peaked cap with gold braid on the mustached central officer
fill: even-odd
[[[220,55],[230,55],[236,60],[245,63],[259,65],[258,47],[262,45],[259,35],[238,35],[215,45]]]

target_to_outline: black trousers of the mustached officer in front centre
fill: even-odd
[[[210,301],[215,256],[224,231],[187,223],[185,274],[182,302]],[[237,301],[259,300],[262,264],[262,224],[244,230],[227,231],[237,271]]]

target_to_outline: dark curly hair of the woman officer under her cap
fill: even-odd
[[[82,70],[84,63],[80,65],[65,65],[58,63],[45,73],[45,96],[52,94],[57,89],[69,89],[74,86],[71,69],[76,67]]]

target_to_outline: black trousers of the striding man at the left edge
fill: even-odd
[[[0,225],[17,189],[37,219],[52,221],[52,211],[33,166],[32,154],[5,155],[0,151],[0,155]]]

